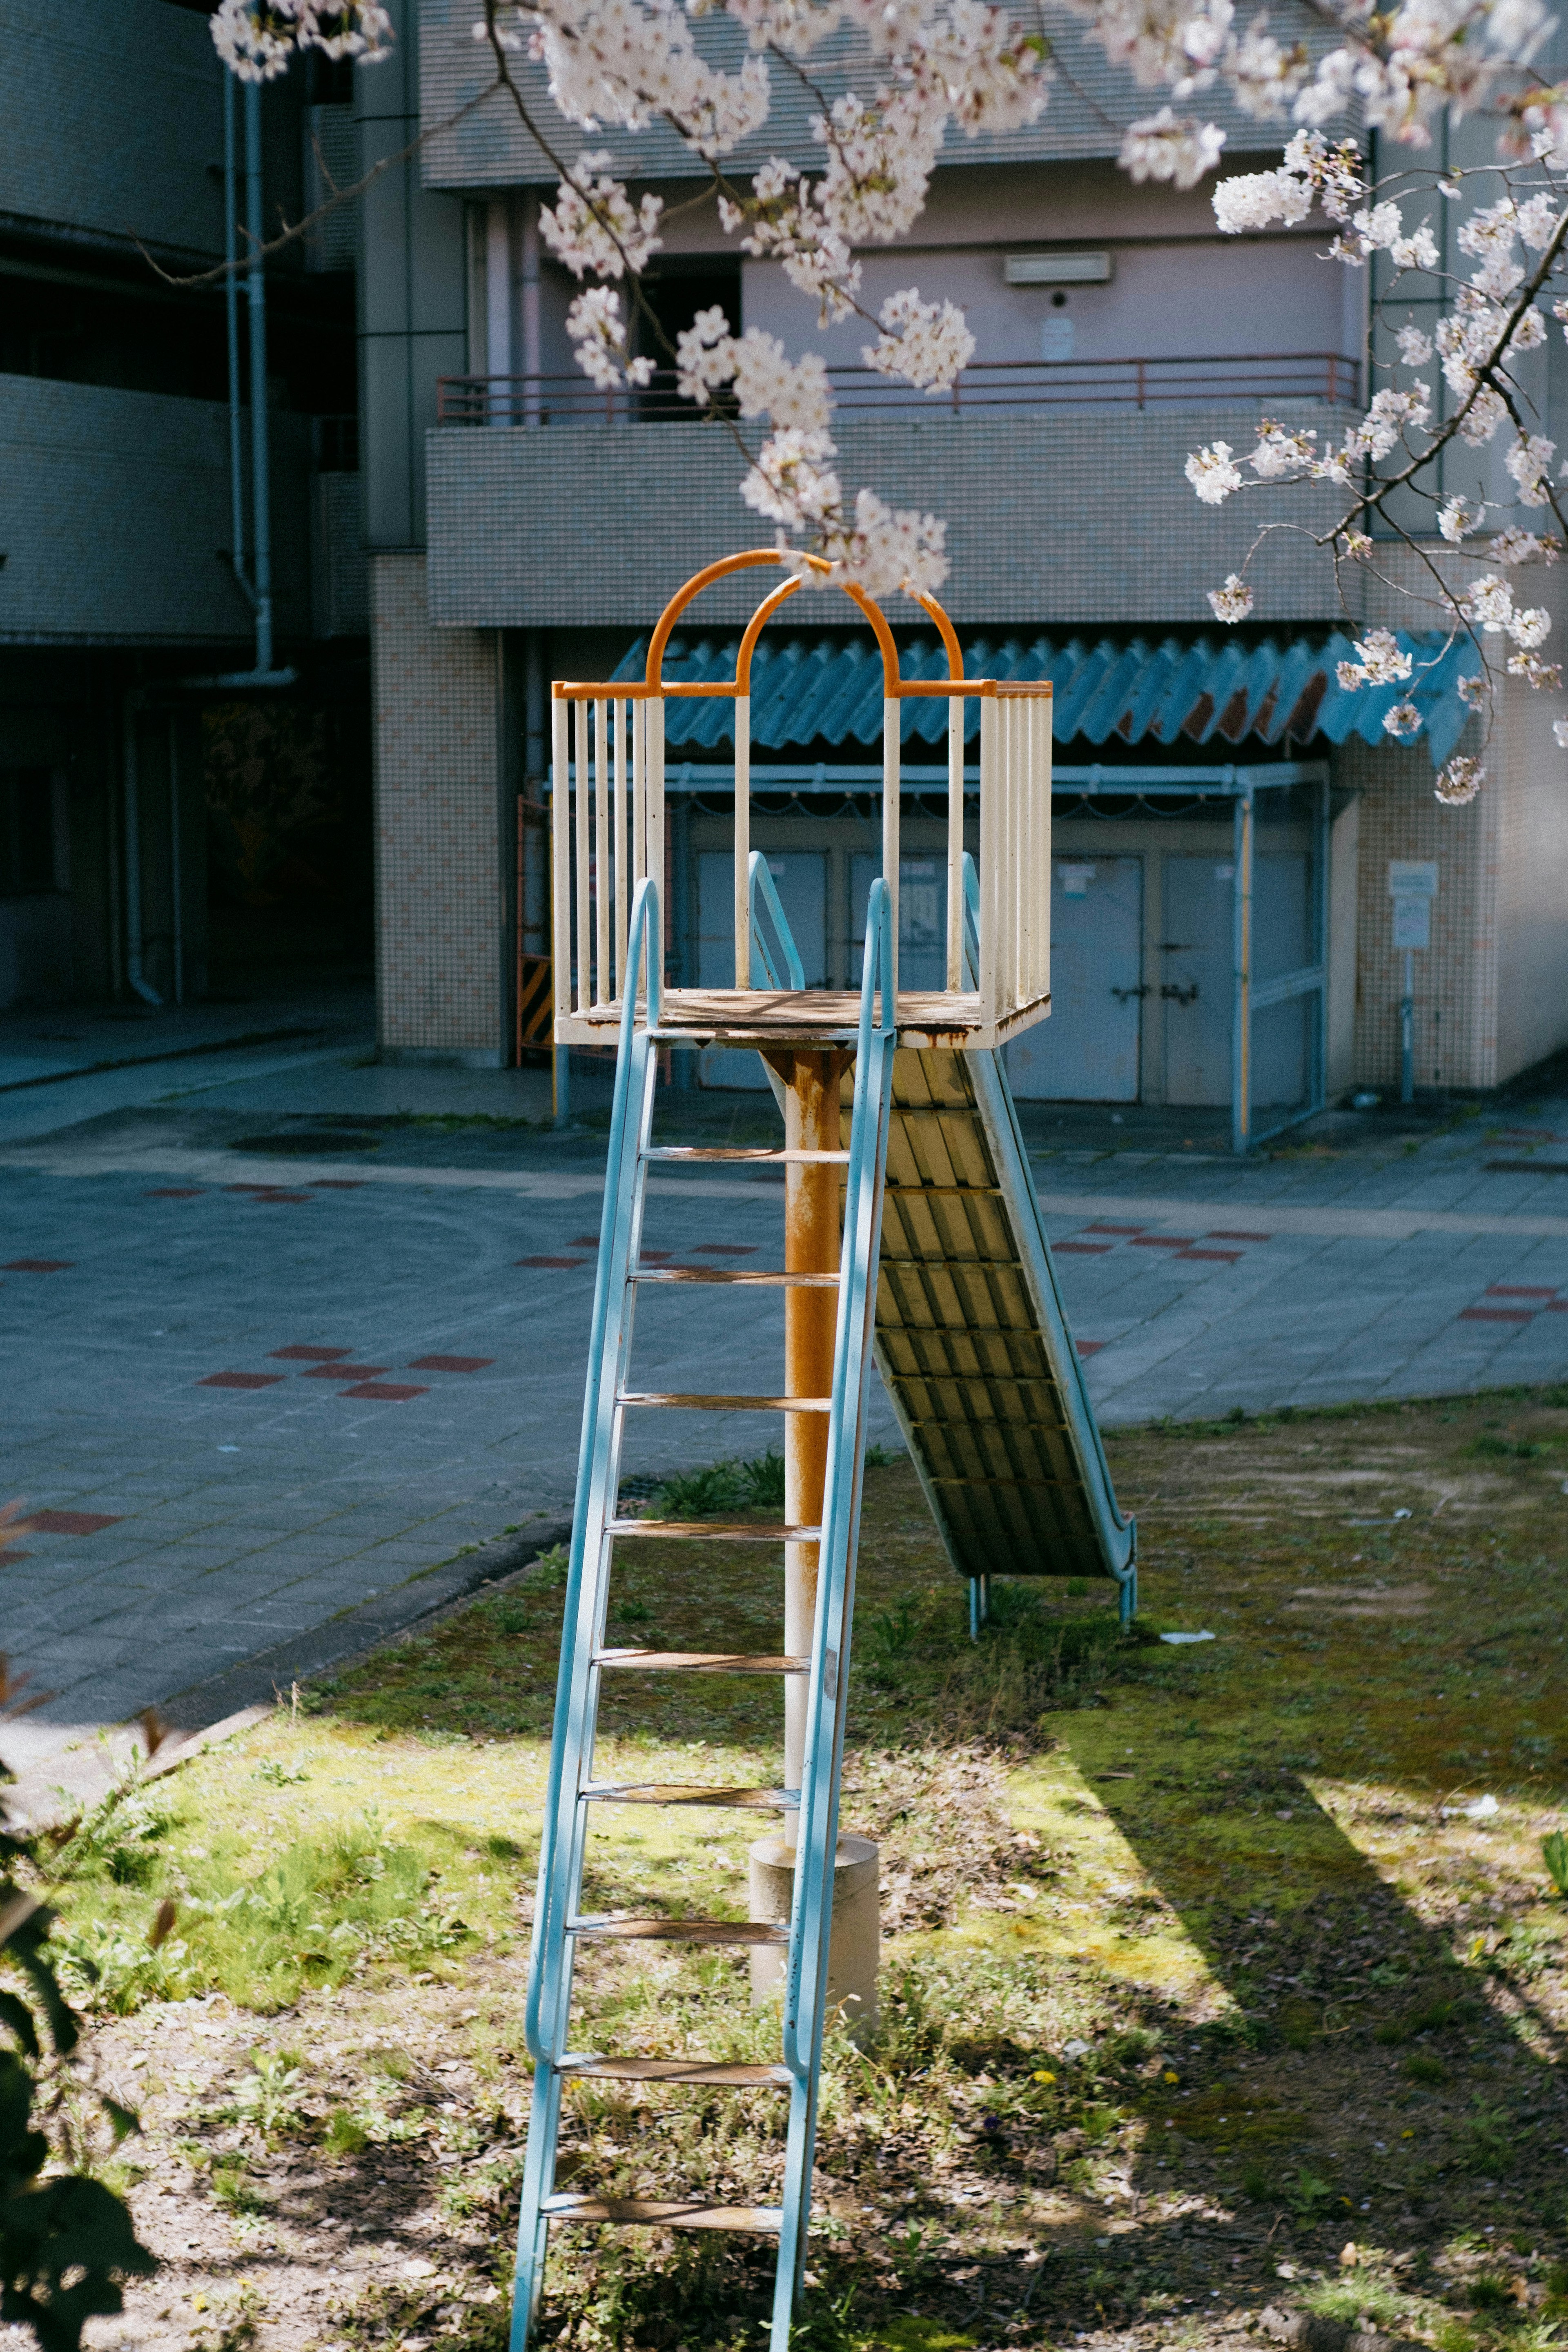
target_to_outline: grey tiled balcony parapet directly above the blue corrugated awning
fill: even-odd
[[[1342,414],[1288,405],[1291,421],[1324,430]],[[1199,506],[1182,463],[1199,442],[1251,447],[1255,433],[1253,409],[1204,407],[842,419],[837,440],[846,487],[947,517],[954,621],[1213,628],[1204,590],[1239,569],[1258,517],[1244,501]],[[701,564],[769,546],[771,529],[741,503],[743,470],[729,435],[701,423],[437,426],[425,440],[430,614],[468,628],[646,628]],[[1293,494],[1291,517],[1312,522],[1316,508],[1328,513],[1321,494]],[[1302,562],[1293,534],[1262,543],[1251,581],[1260,621],[1340,619],[1333,569]],[[736,621],[755,602],[750,579],[722,583],[701,619]]]

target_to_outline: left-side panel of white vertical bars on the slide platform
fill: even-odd
[[[630,903],[665,877],[665,706],[557,684],[552,699],[550,962],[555,1018],[616,1004]],[[661,950],[663,953],[663,950]]]

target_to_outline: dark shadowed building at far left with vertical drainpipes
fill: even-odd
[[[5,33],[0,1007],[132,1011],[369,960],[357,223],[339,207],[268,259],[230,360],[205,12],[16,0]],[[235,212],[249,158],[268,235],[348,181],[346,71],[230,115]]]

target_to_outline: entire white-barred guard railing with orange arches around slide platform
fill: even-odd
[[[696,588],[729,569],[776,562],[757,550],[710,564],[661,619],[639,684],[569,684],[552,689],[552,983],[559,1044],[602,1037],[618,1018],[625,985],[628,915],[644,875],[665,873],[665,701],[705,696],[733,703],[733,993],[752,990],[752,743],[750,661],[762,623],[797,590],[788,579],[762,600],[743,633],[729,680],[663,677],[670,626]],[[943,630],[950,677],[905,680],[884,616],[863,604],[884,661],[882,701],[882,880],[889,891],[893,978],[898,976],[900,880],[900,734],[903,706],[947,701],[947,938],[945,985],[919,990],[900,1007],[917,1030],[961,1030],[976,1044],[1041,1018],[1051,1002],[1051,684],[964,677],[959,642],[936,600],[922,597]],[[980,856],[978,990],[964,971],[964,706],[980,703]],[[922,769],[922,786],[929,769]],[[762,983],[766,985],[766,976]],[[724,995],[724,990],[717,990]],[[769,990],[778,995],[778,990]],[[785,990],[788,993],[788,990]],[[701,993],[712,1016],[715,990]],[[827,1014],[820,990],[802,1018]],[[945,1009],[943,1000],[954,1000]],[[665,1018],[679,1025],[682,990],[670,990]],[[729,1021],[731,1016],[724,1014]],[[776,1025],[778,1007],[769,1016]],[[585,1028],[585,1023],[595,1028]]]

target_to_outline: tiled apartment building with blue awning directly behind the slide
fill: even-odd
[[[510,99],[473,103],[487,54],[470,19],[465,0],[407,0],[395,59],[357,89],[362,162],[404,158],[367,198],[362,263],[378,993],[388,1058],[505,1063],[534,1033],[550,953],[548,680],[639,675],[665,597],[766,532],[736,496],[733,437],[693,421],[668,372],[637,395],[574,372],[576,287],[538,235],[552,172]],[[1354,623],[1302,539],[1265,543],[1253,621],[1215,628],[1204,590],[1239,567],[1255,510],[1199,508],[1182,459],[1215,437],[1251,447],[1260,414],[1342,430],[1366,395],[1366,278],[1328,268],[1312,226],[1222,240],[1206,191],[1133,186],[1114,125],[1147,96],[1070,19],[1053,35],[1067,73],[1044,120],[950,141],[910,240],[860,256],[872,308],[910,282],[964,303],[978,353],[950,395],[870,374],[853,320],[818,334],[778,268],[722,238],[672,136],[552,136],[609,148],[665,195],[651,292],[668,334],[717,301],[733,327],[825,350],[844,477],[947,517],[966,670],[1056,682],[1056,1007],[1013,1049],[1018,1094],[1229,1103],[1248,1143],[1352,1084],[1394,1084],[1392,868],[1429,894],[1429,946],[1410,950],[1415,1082],[1495,1087],[1568,1040],[1547,699],[1505,701],[1488,790],[1441,809],[1434,764],[1476,731],[1462,649],[1420,673],[1425,731],[1396,748],[1380,727],[1392,696],[1335,682]],[[703,38],[738,54],[726,19]],[[837,87],[846,61],[830,47],[813,78]],[[548,108],[538,78],[524,85]],[[811,108],[776,73],[773,120],[733,172],[766,153],[811,162]],[[1258,125],[1222,120],[1227,169],[1276,158]],[[1540,367],[1554,409],[1561,350]],[[1326,515],[1300,492],[1293,520]],[[1392,586],[1359,588],[1356,621],[1406,619],[1392,560]],[[708,593],[668,675],[733,675],[755,595],[745,576]],[[889,619],[905,675],[936,668],[924,616]],[[752,847],[806,981],[856,969],[882,837],[877,675],[837,597],[795,597],[757,652]],[[668,957],[691,983],[733,978],[731,729],[726,701],[670,708]],[[936,706],[910,708],[910,985],[945,938],[943,731]],[[686,1075],[745,1084],[755,1065],[710,1051]]]

